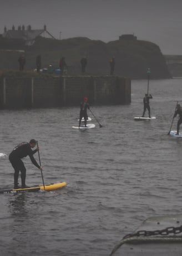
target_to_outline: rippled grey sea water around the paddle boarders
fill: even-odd
[[[181,213],[182,139],[167,133],[182,79],[150,81],[156,120],[137,122],[146,89],[146,80],[132,81],[130,105],[93,106],[103,127],[93,118],[87,131],[72,129],[79,107],[1,110],[0,152],[35,138],[44,182],[68,183],[46,194],[0,195],[1,255],[105,256],[146,218]],[[0,163],[1,188],[11,188],[8,158]],[[24,163],[27,185],[41,183],[41,172]]]

